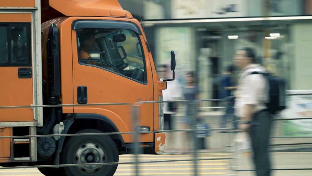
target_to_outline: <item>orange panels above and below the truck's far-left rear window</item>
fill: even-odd
[[[4,2],[0,3],[1,4]],[[31,22],[31,14],[0,13],[1,22]],[[0,107],[30,106],[33,104],[32,78],[19,79],[19,67],[1,67],[0,69]],[[33,121],[31,108],[0,109],[0,122]],[[21,116],[21,114],[23,114]]]

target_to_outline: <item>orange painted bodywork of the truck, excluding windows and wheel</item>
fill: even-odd
[[[42,57],[36,58],[35,52],[31,52],[32,66],[25,66],[24,68],[36,69],[37,63],[35,63],[35,61],[36,59],[41,59],[42,69],[40,68],[36,73],[41,74],[43,82],[46,81],[48,77],[47,42],[49,27],[52,24],[57,27],[61,85],[59,101],[61,104],[79,103],[78,86],[85,86],[88,88],[87,104],[158,101],[158,97],[162,96],[162,90],[166,89],[167,84],[166,82],[161,82],[157,75],[152,55],[147,48],[147,40],[143,29],[140,23],[134,19],[128,11],[124,10],[117,0],[41,0],[41,8],[36,7],[38,4],[40,3],[38,3],[37,0],[1,1],[0,7],[8,7],[12,9],[13,12],[0,13],[0,22],[32,23],[31,39],[33,41],[31,42],[31,48],[32,51],[35,50],[34,48],[41,49]],[[19,10],[18,8],[23,8],[24,10],[17,13]],[[38,35],[40,31],[33,31],[35,19],[34,11],[36,11],[37,8],[41,9],[41,48],[36,45],[34,41],[35,33]],[[144,65],[145,82],[136,81],[133,78],[129,78],[129,76],[127,77],[105,69],[82,64],[79,61],[78,46],[80,43],[77,41],[78,30],[73,29],[73,23],[75,21],[88,20],[114,21],[114,23],[119,21],[131,23],[137,27],[139,30],[137,38],[142,45],[142,56],[140,57],[144,60],[140,62],[138,58],[131,58],[129,56],[129,61]],[[139,33],[142,34],[139,35]],[[135,49],[137,49],[135,45],[127,46],[125,44],[124,50]],[[10,66],[0,68],[0,85],[6,85],[1,86],[0,89],[0,107],[29,106],[31,104],[36,104],[36,94],[40,94],[43,91],[33,91],[36,86],[35,83],[41,83],[41,77],[36,77],[36,75],[33,74],[32,78],[18,79],[18,68],[20,67]],[[36,80],[38,78],[40,78],[40,80]],[[141,104],[139,106],[137,125],[140,127],[149,127],[151,131],[159,130],[159,104],[160,103]],[[130,105],[71,105],[62,107],[61,113],[100,114],[109,118],[119,132],[134,131],[133,111]],[[37,116],[39,117],[40,115]],[[47,117],[41,118],[46,119]],[[15,128],[15,126],[10,127],[9,125],[1,127],[2,122],[20,123],[34,121],[37,121],[37,117],[32,108],[0,109],[0,136],[13,135],[12,132]],[[125,144],[134,143],[133,134],[122,134],[121,136]],[[12,141],[12,138],[0,139],[0,163],[15,162],[12,158]],[[164,151],[164,141],[165,134],[163,133],[145,133],[139,135],[139,142],[144,142],[141,146],[146,147],[149,146],[150,143],[154,143],[155,152],[158,154],[162,154]],[[32,157],[32,154],[30,155]]]

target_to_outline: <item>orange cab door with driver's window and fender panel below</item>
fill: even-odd
[[[88,23],[94,28],[84,27]],[[133,23],[99,20],[73,25],[74,103],[154,101],[150,63],[144,57],[139,28]],[[74,113],[91,112],[110,118],[120,132],[133,131],[129,105],[74,107]],[[144,104],[141,112],[139,126],[153,130],[153,103]],[[124,142],[131,142],[125,136]],[[153,133],[144,134],[141,140],[152,142]]]

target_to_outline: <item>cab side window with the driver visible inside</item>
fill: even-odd
[[[146,82],[146,68],[138,34],[129,29],[77,30],[79,63]]]

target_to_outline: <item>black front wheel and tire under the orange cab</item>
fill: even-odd
[[[77,133],[102,133],[83,129]],[[107,135],[72,136],[62,152],[63,164],[115,163],[119,155],[114,141]],[[64,167],[66,176],[112,176],[118,164]]]

